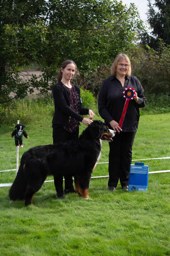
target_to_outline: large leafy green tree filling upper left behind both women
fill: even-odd
[[[65,59],[88,76],[128,50],[143,27],[135,5],[117,0],[1,0],[0,8],[1,103],[9,93],[22,98],[34,88],[50,90]],[[30,61],[39,65],[39,79],[22,78]]]

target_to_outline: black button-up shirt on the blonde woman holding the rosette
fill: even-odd
[[[119,123],[126,100],[123,98],[125,87],[132,87],[139,97],[138,103],[133,99],[130,100],[122,126],[123,132],[134,132],[138,129],[139,108],[146,105],[143,87],[136,76],[126,76],[124,87],[116,76],[106,78],[100,88],[98,112],[107,124],[112,120]]]

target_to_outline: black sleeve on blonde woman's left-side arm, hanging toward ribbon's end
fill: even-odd
[[[109,124],[113,120],[113,117],[107,109],[107,93],[108,93],[108,79],[105,79],[101,85],[98,96],[98,113]]]

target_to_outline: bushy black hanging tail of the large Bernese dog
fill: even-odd
[[[24,175],[23,165],[19,167],[15,180],[9,190],[9,198],[12,201],[24,200],[26,194],[27,182]]]

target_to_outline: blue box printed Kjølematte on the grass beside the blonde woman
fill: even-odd
[[[135,162],[131,165],[128,191],[146,191],[148,187],[149,167]]]

